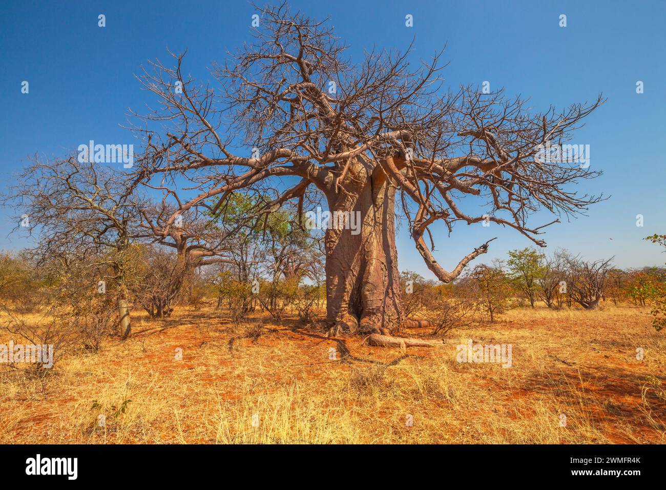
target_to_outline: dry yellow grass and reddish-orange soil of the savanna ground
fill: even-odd
[[[515,309],[404,353],[260,313],[240,325],[210,308],[137,313],[130,339],[43,379],[0,366],[0,442],[665,443],[666,407],[643,390],[666,365],[650,319],[608,303]],[[513,345],[512,367],[456,362],[467,339]]]

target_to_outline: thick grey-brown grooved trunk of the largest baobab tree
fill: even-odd
[[[390,333],[404,322],[395,187],[384,174],[371,175],[362,163],[350,166],[330,205],[334,226],[326,231],[326,313],[333,333]],[[342,229],[335,226],[336,211],[354,213],[346,215]]]

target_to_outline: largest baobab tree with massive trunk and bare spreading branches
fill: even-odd
[[[559,220],[529,227],[529,215],[575,214],[600,199],[569,189],[598,172],[539,153],[569,141],[600,98],[533,113],[501,91],[445,92],[443,50],[416,69],[411,49],[372,51],[354,64],[325,21],[284,4],[258,13],[254,42],[212,67],[214,85],[184,76],[184,54],[144,69],[139,79],[159,106],[133,113],[145,141],[136,175],[168,192],[183,181],[196,189],[178,201],[172,221],[189,209],[217,213],[239,189],[272,189],[266,212],[294,200],[300,217],[306,197],[318,193],[328,211],[355,213],[360,233],[338,226],[324,237],[332,335],[390,335],[405,325],[396,207],[428,269],[448,283],[490,240],[446,271],[432,252],[436,223],[449,232],[458,221],[496,223],[545,246],[538,235]],[[466,210],[464,201],[486,211]]]

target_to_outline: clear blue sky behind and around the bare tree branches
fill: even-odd
[[[548,249],[566,247],[589,259],[615,255],[620,267],[660,265],[666,255],[641,238],[666,233],[666,2],[664,1],[292,1],[315,18],[329,16],[358,59],[363,49],[403,48],[416,37],[416,55],[448,43],[446,83],[505,87],[531,107],[608,101],[587,118],[573,143],[589,144],[591,169],[604,175],[580,190],[611,195],[587,217],[549,227]],[[250,40],[252,5],[245,1],[15,1],[0,4],[0,172],[4,187],[27,155],[64,155],[82,142],[133,143],[127,109],[152,99],[134,78],[147,59],[166,60],[166,47],[188,49],[186,71],[200,79],[227,49]],[[107,26],[97,26],[106,15]],[[414,27],[405,26],[412,14]],[[567,27],[559,27],[559,15]],[[29,94],[21,82],[29,81]],[[645,93],[637,94],[643,81]],[[635,225],[642,214],[645,227]],[[546,219],[537,217],[533,225]],[[550,220],[548,220],[550,221]],[[25,239],[0,211],[0,248]],[[513,230],[442,229],[436,257],[451,268],[490,237],[488,262],[531,244]],[[612,239],[612,240],[611,240]],[[548,250],[546,249],[546,250]],[[406,231],[398,237],[400,269],[433,278]]]

